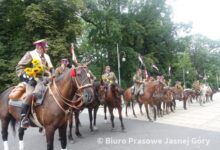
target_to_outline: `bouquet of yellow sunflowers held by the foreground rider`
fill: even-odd
[[[30,68],[30,67],[25,68],[24,72],[28,76],[34,77],[34,78],[42,76],[44,73],[44,67],[42,65],[40,65],[39,60],[33,59],[31,63],[32,63],[33,67],[32,68]]]

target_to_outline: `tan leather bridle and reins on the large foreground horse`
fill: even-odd
[[[87,68],[86,66],[78,66],[78,67],[76,67],[76,68],[74,68],[74,69],[77,70],[77,69],[79,69],[79,68],[82,68],[82,69],[87,73],[87,71],[85,70],[85,68]],[[61,98],[61,101],[62,101],[65,105],[67,105],[69,108],[73,108],[73,109],[79,110],[79,109],[81,108],[81,106],[83,105],[83,93],[82,93],[81,91],[82,91],[83,89],[85,89],[85,88],[92,87],[92,84],[91,84],[91,83],[87,83],[87,84],[83,85],[83,83],[84,83],[86,80],[87,80],[87,79],[84,79],[84,80],[82,81],[82,84],[80,85],[79,82],[78,82],[78,80],[77,80],[77,75],[76,75],[76,77],[71,77],[71,81],[75,81],[76,86],[77,86],[77,91],[76,91],[76,93],[75,93],[73,99],[77,96],[77,97],[78,97],[77,100],[73,100],[73,99],[70,100],[70,99],[64,97],[64,96],[62,95],[62,93],[60,92],[59,88],[57,87],[55,80],[53,80],[53,85],[54,85],[54,88],[55,88],[56,92],[58,93],[59,97]],[[90,79],[89,79],[89,80],[90,80]],[[71,83],[72,83],[72,82],[71,82]],[[69,111],[69,109],[66,110],[65,108],[63,108],[63,106],[60,104],[59,100],[55,97],[54,93],[52,92],[50,86],[49,86],[49,90],[50,90],[50,93],[52,94],[52,96],[53,96],[55,102],[56,102],[57,105],[60,107],[60,109],[63,110],[65,113],[66,113],[67,111]]]

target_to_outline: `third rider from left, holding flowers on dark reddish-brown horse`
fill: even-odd
[[[111,85],[113,83],[118,83],[115,73],[111,71],[111,68],[109,65],[105,66],[105,71],[104,71],[104,74],[102,75],[102,80],[108,85]]]

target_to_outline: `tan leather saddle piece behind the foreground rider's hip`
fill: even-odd
[[[11,91],[9,94],[9,99],[14,101],[22,101],[25,98],[26,85],[21,82]]]

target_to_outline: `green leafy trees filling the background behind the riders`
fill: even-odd
[[[177,38],[177,32],[189,32],[191,25],[173,24],[171,15],[164,0],[3,0],[0,90],[18,82],[15,66],[26,51],[34,49],[33,41],[43,38],[49,41],[54,66],[63,57],[71,59],[69,48],[74,43],[79,60],[92,59],[89,67],[97,79],[106,64],[118,76],[118,44],[120,58],[126,58],[120,60],[123,87],[133,84],[139,54],[152,76],[163,74],[173,84],[184,76],[187,87],[196,79],[217,86],[220,41],[201,35]]]

